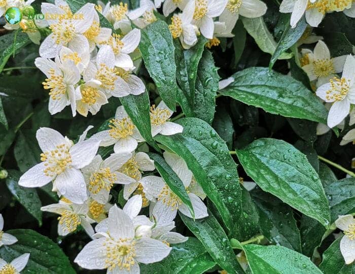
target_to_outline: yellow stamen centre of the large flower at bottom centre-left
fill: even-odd
[[[135,263],[135,241],[133,239],[120,239],[119,241],[108,240],[105,243],[106,259],[105,264],[108,270],[112,271],[115,267],[121,270],[130,270]]]

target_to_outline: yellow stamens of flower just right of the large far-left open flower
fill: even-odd
[[[116,180],[117,176],[115,173],[111,172],[110,168],[100,169],[98,172],[91,175],[89,191],[94,194],[97,194],[102,189],[110,191]]]

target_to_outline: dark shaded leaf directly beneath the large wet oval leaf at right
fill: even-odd
[[[301,252],[301,237],[292,208],[261,190],[251,191],[259,211],[259,226],[266,239]]]

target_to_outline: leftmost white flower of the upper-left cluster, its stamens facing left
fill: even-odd
[[[65,106],[70,105],[73,116],[76,115],[76,94],[74,85],[80,81],[80,71],[73,60],[60,61],[59,57],[55,62],[50,59],[38,57],[34,61],[47,79],[43,87],[49,90],[48,110],[53,115],[62,111]]]

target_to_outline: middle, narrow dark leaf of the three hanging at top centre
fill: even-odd
[[[174,39],[176,81],[181,91],[177,93],[177,102],[181,105],[187,117],[194,117],[195,83],[197,66],[202,57],[206,38],[200,37],[191,49],[184,50],[179,40]]]

